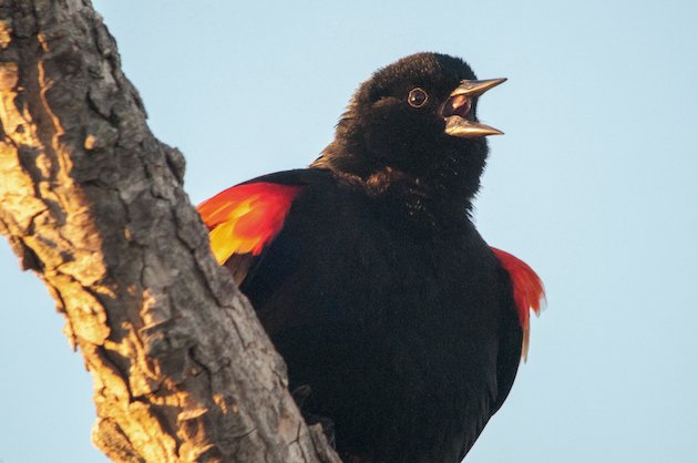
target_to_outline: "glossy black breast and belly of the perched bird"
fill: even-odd
[[[243,286],[291,389],[310,385],[307,407],[335,420],[338,440],[406,447],[448,434],[462,449],[479,432],[464,423],[489,418],[496,264],[464,213],[450,226],[419,214],[351,188],[310,191]],[[446,411],[448,433],[430,436]]]

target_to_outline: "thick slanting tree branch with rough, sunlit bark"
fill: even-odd
[[[89,0],[0,0],[0,232],[84,356],[93,442],[121,462],[338,461],[145,117]]]

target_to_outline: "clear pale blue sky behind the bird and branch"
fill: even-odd
[[[402,55],[509,78],[480,105],[506,135],[476,223],[541,274],[548,308],[466,461],[696,461],[698,2],[94,3],[195,203],[308,164]],[[0,460],[103,461],[81,357],[4,240],[0,292]]]

